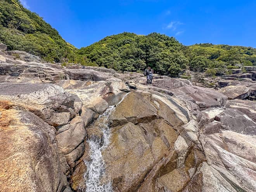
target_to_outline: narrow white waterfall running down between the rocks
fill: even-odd
[[[123,99],[125,99],[126,95]],[[119,103],[121,103],[123,99]],[[115,108],[116,106],[110,106],[96,120],[99,122],[99,128],[103,133],[103,145],[100,146],[100,140],[87,140],[87,143],[90,145],[91,161],[85,162],[87,166],[87,171],[84,175],[86,178],[86,192],[113,192],[112,183],[109,182],[101,185],[100,178],[105,172],[105,164],[101,152],[106,149],[110,142],[111,131],[109,128],[109,116]]]

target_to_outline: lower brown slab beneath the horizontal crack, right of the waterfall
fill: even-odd
[[[147,172],[168,153],[177,138],[173,128],[160,119],[140,126],[127,123],[114,128],[111,144],[103,152],[106,176],[113,180],[116,190],[130,192],[137,189]]]

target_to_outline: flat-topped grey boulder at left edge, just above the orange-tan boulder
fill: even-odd
[[[73,96],[53,84],[0,83],[0,106],[31,111],[55,127],[74,117]]]

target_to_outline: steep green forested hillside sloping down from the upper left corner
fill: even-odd
[[[25,9],[19,0],[0,0],[0,42],[9,50],[23,50],[46,61],[73,59],[76,48],[38,14]]]

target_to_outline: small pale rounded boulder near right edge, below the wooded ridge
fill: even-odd
[[[227,95],[228,99],[245,99],[251,94],[251,90],[246,86],[230,85],[219,90],[220,93]]]

